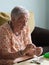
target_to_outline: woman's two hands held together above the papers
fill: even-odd
[[[36,56],[41,55],[42,52],[43,52],[42,47],[36,47],[34,44],[28,44],[25,50],[23,51],[23,54],[34,57],[34,55]]]

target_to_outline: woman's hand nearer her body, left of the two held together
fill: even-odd
[[[28,44],[24,50],[24,55],[34,56],[36,46],[34,44]]]

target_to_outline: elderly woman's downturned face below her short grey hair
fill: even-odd
[[[27,24],[28,17],[26,15],[21,15],[15,19],[15,27],[22,30]]]

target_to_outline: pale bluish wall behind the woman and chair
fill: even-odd
[[[0,11],[10,12],[16,5],[22,5],[35,14],[35,25],[46,28],[47,0],[0,0]]]

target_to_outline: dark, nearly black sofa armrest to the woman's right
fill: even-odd
[[[36,46],[49,46],[49,30],[47,29],[35,27],[31,38]]]

